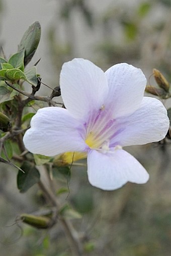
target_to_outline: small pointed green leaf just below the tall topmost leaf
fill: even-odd
[[[10,57],[8,63],[11,64],[13,67],[24,71],[24,50],[13,54]]]

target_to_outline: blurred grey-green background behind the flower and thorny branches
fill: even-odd
[[[74,57],[89,59],[104,71],[119,62],[133,64],[154,86],[150,75],[157,68],[171,81],[170,0],[1,0],[0,20],[0,44],[7,57],[17,51],[26,29],[40,22],[41,41],[31,64],[41,58],[38,72],[52,88],[59,84],[63,62]],[[42,86],[40,94],[49,94],[49,89]],[[167,101],[163,104],[170,107]],[[86,233],[85,255],[170,256],[170,142],[127,150],[148,170],[147,184],[105,192],[91,187],[84,166],[73,166],[69,196],[61,200],[82,216],[73,223]],[[19,214],[34,212],[44,202],[36,185],[19,193],[15,169],[4,164],[0,169],[1,255],[69,256],[58,224],[46,231],[14,224]],[[66,179],[55,179],[66,186]]]

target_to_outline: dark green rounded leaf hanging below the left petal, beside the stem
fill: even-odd
[[[21,193],[25,193],[34,184],[39,182],[40,174],[38,169],[29,161],[25,161],[21,169],[24,170],[24,173],[19,170],[17,175],[17,187]]]

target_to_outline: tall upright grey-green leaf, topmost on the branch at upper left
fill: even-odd
[[[24,65],[27,65],[38,47],[41,36],[41,27],[38,21],[34,22],[24,33],[18,50],[25,51]]]

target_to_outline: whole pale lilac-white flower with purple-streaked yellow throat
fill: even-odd
[[[87,152],[89,182],[103,190],[146,183],[144,167],[122,149],[159,141],[168,130],[166,109],[143,97],[145,85],[141,69],[126,63],[105,73],[89,60],[64,63],[60,88],[66,109],[38,110],[24,136],[26,148],[47,156]]]

